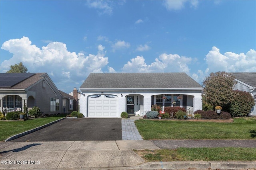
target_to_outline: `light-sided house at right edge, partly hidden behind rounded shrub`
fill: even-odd
[[[249,92],[255,100],[256,105],[256,72],[232,72],[237,84],[234,90]],[[250,115],[256,115],[256,106],[252,107]]]

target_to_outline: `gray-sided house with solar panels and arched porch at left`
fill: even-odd
[[[44,114],[62,113],[63,97],[47,73],[0,73],[0,111],[24,105]]]

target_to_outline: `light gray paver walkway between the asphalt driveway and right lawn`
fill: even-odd
[[[140,116],[130,116],[128,119],[122,119],[122,140],[143,140],[134,123],[140,119]]]

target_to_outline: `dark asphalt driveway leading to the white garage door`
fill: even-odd
[[[12,142],[122,140],[121,120],[118,118],[63,119]]]

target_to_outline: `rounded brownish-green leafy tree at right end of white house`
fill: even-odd
[[[235,84],[235,77],[231,73],[212,72],[203,82],[206,102],[213,108],[216,106],[228,107],[236,96],[233,90]]]

